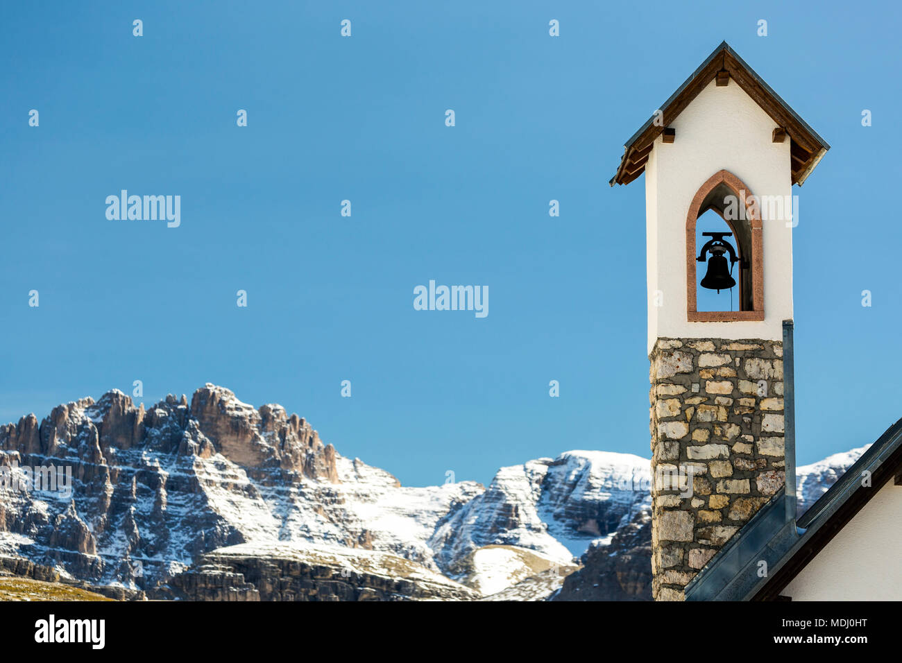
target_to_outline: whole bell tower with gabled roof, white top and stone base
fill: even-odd
[[[792,185],[828,149],[724,41],[630,138],[610,182],[645,173],[658,601],[683,600],[785,483]]]

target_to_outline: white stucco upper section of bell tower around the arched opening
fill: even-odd
[[[649,353],[660,336],[782,339],[782,321],[793,317],[789,212],[769,218],[767,206],[761,209],[765,319],[759,322],[688,322],[686,214],[696,191],[722,169],[756,196],[791,196],[788,138],[771,142],[777,124],[733,80],[726,87],[712,80],[670,126],[675,142],[658,136],[645,169]]]

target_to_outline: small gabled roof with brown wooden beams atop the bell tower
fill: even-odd
[[[773,118],[776,127],[783,129],[789,137],[792,182],[799,186],[805,182],[818,161],[830,149],[830,145],[821,138],[780,96],[764,82],[764,80],[742,60],[730,45],[723,41],[713,53],[695,69],[692,76],[676,89],[669,99],[660,107],[663,114],[661,121],[655,123],[655,115],[642,124],[640,130],[630,137],[623,146],[623,156],[617,173],[609,184],[629,184],[645,170],[652,146],[658,134],[661,134],[676,116],[689,106],[699,92],[714,78],[723,72],[735,81],[746,94],[757,103],[765,113]],[[720,83],[718,83],[720,85]]]

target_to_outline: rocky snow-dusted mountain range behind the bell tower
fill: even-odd
[[[805,506],[861,452],[800,467]],[[29,484],[51,465],[70,493]],[[556,592],[582,558],[559,595],[640,599],[649,483],[646,458],[568,451],[488,488],[406,487],[279,405],[109,391],[0,427],[0,563],[153,598],[499,600]]]

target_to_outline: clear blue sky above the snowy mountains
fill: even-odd
[[[644,178],[607,181],[725,39],[832,145],[793,191],[798,460],[870,442],[902,416],[899,14],[2,5],[0,419],[216,382],[402,483],[488,482],[572,448],[649,456]],[[120,189],[181,196],[181,226],[107,220]],[[430,279],[488,286],[488,317],[414,310]]]

